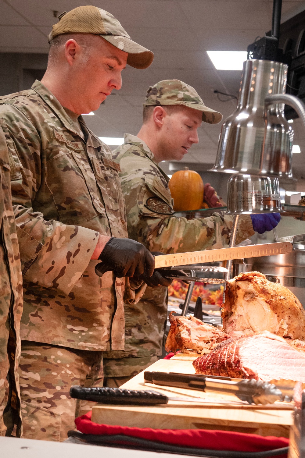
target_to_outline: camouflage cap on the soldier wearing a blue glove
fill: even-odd
[[[185,105],[202,111],[202,120],[209,124],[217,124],[222,114],[208,108],[194,87],[179,80],[163,80],[150,86],[146,93],[145,106],[150,105]]]

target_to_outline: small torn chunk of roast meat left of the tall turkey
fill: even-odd
[[[209,353],[216,344],[228,338],[220,329],[194,316],[174,316],[171,312],[169,321],[171,327],[165,344],[168,352],[176,353],[177,349],[180,349],[182,353],[198,356]]]

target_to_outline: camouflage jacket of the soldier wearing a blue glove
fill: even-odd
[[[113,155],[121,167],[119,174],[130,238],[143,243],[150,251],[163,253],[221,248],[229,243],[232,216],[215,213],[209,218],[188,221],[174,215],[168,176],[142,140],[126,134],[125,142]],[[241,217],[236,243],[253,234],[250,216]],[[167,312],[166,294],[167,288],[164,287],[147,288],[137,305],[124,305],[125,352],[107,352],[107,359],[161,355]],[[106,364],[108,376],[111,376],[111,363],[107,361]],[[113,363],[113,376],[119,374],[116,371],[118,365]],[[134,370],[134,367],[131,369]]]

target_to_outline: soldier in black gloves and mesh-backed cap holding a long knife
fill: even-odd
[[[42,82],[0,98],[23,274],[23,437],[53,441],[90,409],[70,398],[71,385],[102,385],[102,352],[124,349],[123,296],[132,304],[146,287],[125,286],[125,275],[150,276],[154,266],[127,238],[119,165],[79,115],[120,89],[126,61],[146,68],[153,54],[100,8],[59,19]],[[99,259],[110,270],[102,278]]]

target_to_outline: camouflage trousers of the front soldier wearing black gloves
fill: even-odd
[[[94,405],[70,398],[70,387],[103,386],[103,353],[22,341],[19,380],[22,437],[64,441]]]

